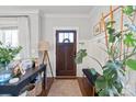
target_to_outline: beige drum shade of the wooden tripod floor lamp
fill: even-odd
[[[49,49],[49,43],[46,41],[41,41],[38,44],[38,50],[44,52]]]

